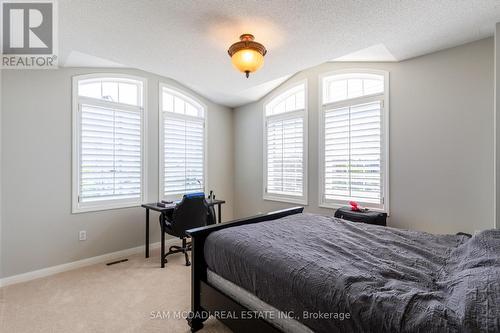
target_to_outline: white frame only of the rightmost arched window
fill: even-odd
[[[376,93],[376,94],[370,94],[370,95],[364,95],[360,97],[354,97],[354,98],[349,98],[341,101],[335,101],[335,102],[330,102],[323,104],[323,94],[324,94],[324,79],[329,76],[333,75],[340,75],[340,74],[376,74],[376,75],[381,75],[384,78],[384,92],[383,93]],[[357,104],[362,104],[364,102],[370,102],[370,101],[375,101],[375,100],[381,100],[382,101],[382,139],[381,139],[381,147],[382,147],[382,166],[381,166],[381,173],[382,173],[382,207],[373,207],[370,206],[370,204],[365,204],[363,203],[363,206],[366,206],[367,208],[370,208],[371,210],[374,211],[380,211],[380,212],[386,212],[389,214],[389,203],[390,203],[390,187],[389,187],[389,179],[390,179],[390,174],[389,174],[389,139],[390,139],[390,128],[389,128],[389,115],[390,115],[390,107],[389,107],[389,91],[390,91],[390,85],[389,85],[389,72],[385,70],[379,70],[379,69],[368,69],[368,68],[349,68],[349,69],[340,69],[340,70],[335,70],[335,71],[330,71],[326,73],[322,73],[319,75],[319,82],[318,82],[318,109],[319,109],[319,115],[318,115],[318,202],[319,202],[319,207],[322,208],[333,208],[337,209],[343,206],[348,205],[348,201],[346,202],[340,202],[339,200],[326,200],[325,199],[325,131],[324,131],[324,126],[325,126],[325,111],[330,110],[332,108],[338,108],[342,106],[354,106]]]

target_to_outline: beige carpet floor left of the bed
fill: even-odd
[[[165,315],[189,310],[190,280],[184,255],[161,269],[153,250],[149,259],[137,254],[4,287],[0,332],[190,332],[185,319]],[[210,318],[200,332],[231,331]]]

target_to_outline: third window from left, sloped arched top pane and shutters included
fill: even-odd
[[[264,199],[307,201],[305,87],[301,83],[265,106]]]

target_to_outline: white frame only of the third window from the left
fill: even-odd
[[[275,103],[274,100],[284,94],[286,94],[288,91],[293,90],[297,88],[298,86],[304,86],[304,109],[299,109],[299,110],[293,110],[289,112],[283,112],[279,114],[274,114],[268,116],[266,114],[266,109],[269,104]],[[262,103],[262,142],[263,142],[263,150],[262,150],[262,198],[263,200],[267,201],[278,201],[278,202],[286,202],[286,203],[293,203],[293,204],[299,204],[299,205],[308,205],[308,164],[309,164],[309,159],[308,159],[308,147],[309,147],[309,132],[308,132],[308,118],[309,118],[309,97],[308,97],[308,81],[307,79],[301,80],[294,82],[292,84],[286,85],[282,88],[280,88],[278,91],[274,92],[270,96],[266,97]],[[269,118],[271,119],[279,119],[279,120],[284,120],[284,119],[291,119],[291,118],[296,118],[298,114],[302,114],[303,117],[303,174],[302,174],[302,196],[292,196],[292,195],[285,195],[285,194],[277,194],[277,193],[268,193],[266,191],[267,189],[267,120]]]

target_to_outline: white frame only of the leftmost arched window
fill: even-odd
[[[116,79],[116,80],[133,80],[142,84],[142,106],[134,106],[125,103],[110,102],[102,99],[85,97],[78,95],[78,83],[82,80],[89,79]],[[147,112],[147,80],[140,76],[129,75],[124,73],[91,73],[79,74],[72,77],[72,195],[71,195],[71,213],[86,213],[97,212],[111,209],[121,209],[129,207],[139,207],[147,201],[148,196],[148,112]],[[125,110],[141,111],[142,126],[141,126],[141,194],[139,199],[109,199],[88,203],[80,203],[80,134],[81,134],[81,119],[79,112],[81,109],[81,101],[89,101],[92,105],[101,107],[120,106]]]

